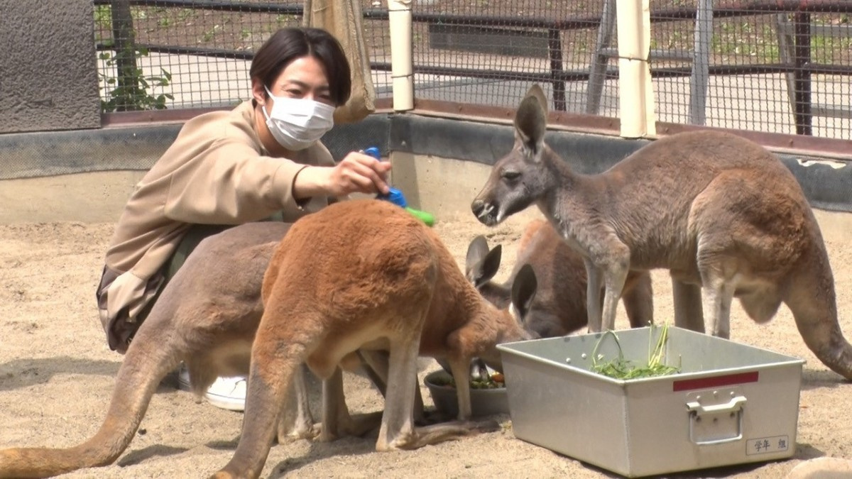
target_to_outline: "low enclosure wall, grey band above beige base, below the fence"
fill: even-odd
[[[180,124],[161,124],[0,135],[0,223],[115,221],[135,182],[178,130]],[[470,214],[470,201],[512,140],[509,126],[417,115],[374,115],[324,138],[337,159],[372,145],[384,156],[393,152],[394,186],[412,206],[439,218]],[[584,173],[606,170],[647,143],[556,131],[547,141]],[[852,163],[780,158],[815,208],[852,211]]]

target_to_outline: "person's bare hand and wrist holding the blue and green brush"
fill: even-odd
[[[313,196],[341,197],[349,193],[389,193],[390,163],[368,154],[352,152],[336,166],[308,166],[293,182],[297,199]]]

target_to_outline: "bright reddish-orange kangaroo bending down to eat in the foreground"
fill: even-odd
[[[459,418],[469,418],[471,358],[500,366],[497,343],[531,338],[465,280],[435,232],[376,199],[344,201],[297,221],[273,253],[262,297],[242,435],[215,477],[260,474],[279,404],[302,362],[328,378],[356,349],[389,350],[376,449],[411,449],[476,427],[468,421],[414,427],[417,355],[446,358]]]

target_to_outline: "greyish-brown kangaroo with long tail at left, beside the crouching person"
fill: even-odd
[[[135,436],[158,384],[180,361],[187,363],[197,395],[219,376],[247,374],[250,346],[262,314],[263,273],[290,226],[247,223],[202,240],[130,343],[101,429],[77,447],[0,451],[0,477],[55,476],[112,464]],[[352,358],[348,361],[355,364]],[[281,415],[279,442],[311,438],[320,429],[308,408],[302,374],[299,368],[289,407]],[[335,393],[337,388],[330,391]],[[360,435],[375,422],[369,417],[348,417],[343,391],[338,394],[329,401],[335,415],[323,424],[321,440],[343,433]]]

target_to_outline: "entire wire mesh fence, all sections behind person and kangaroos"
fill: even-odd
[[[417,100],[619,115],[617,0],[412,0]],[[387,4],[362,0],[374,84],[389,98]],[[650,0],[659,121],[850,136],[852,2]],[[299,1],[95,0],[105,112],[227,107],[252,52]]]

